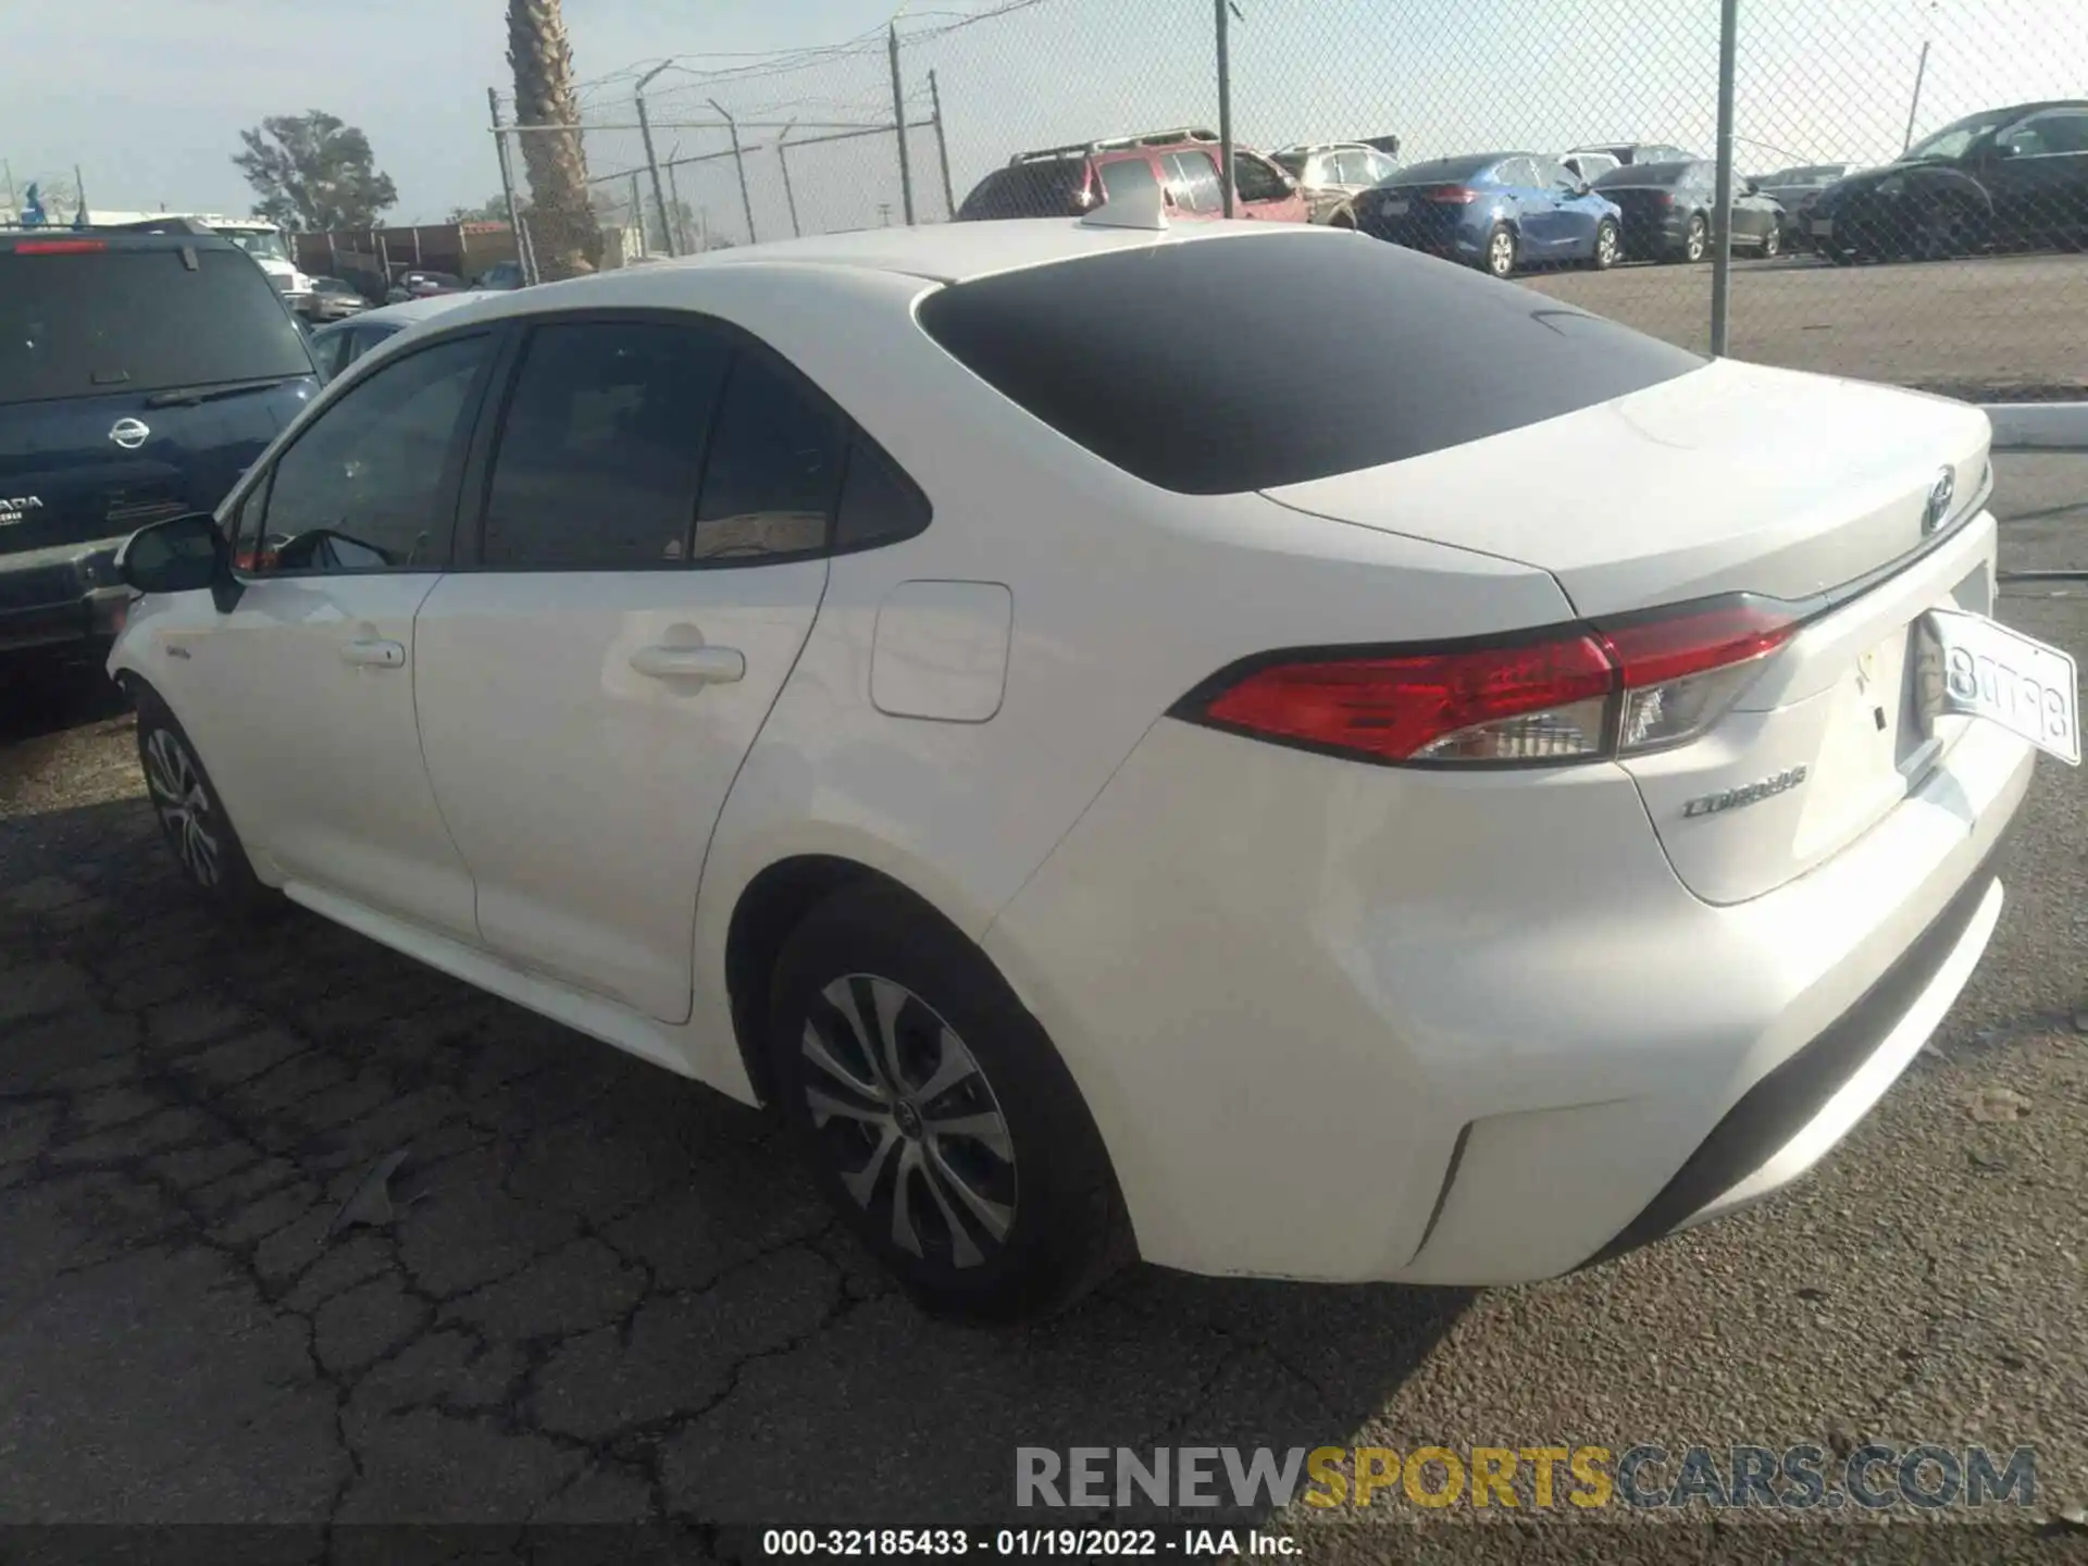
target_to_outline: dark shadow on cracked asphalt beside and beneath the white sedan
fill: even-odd
[[[1340,1443],[1464,1307],[1138,1270],[938,1326],[766,1117],[213,925],[138,800],[0,821],[0,885],[4,1522],[977,1520],[1017,1445]]]

